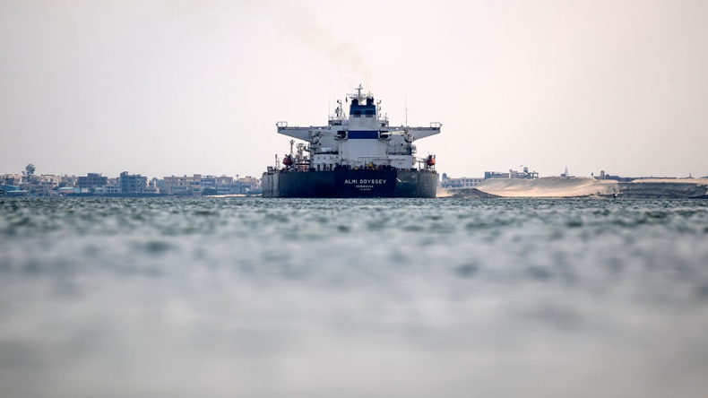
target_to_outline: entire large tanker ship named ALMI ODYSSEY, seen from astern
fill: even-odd
[[[424,197],[436,196],[436,157],[416,157],[416,140],[439,134],[440,123],[427,127],[389,125],[381,101],[371,93],[348,94],[349,115],[337,100],[324,126],[276,124],[290,141],[290,151],[263,172],[263,197]]]

